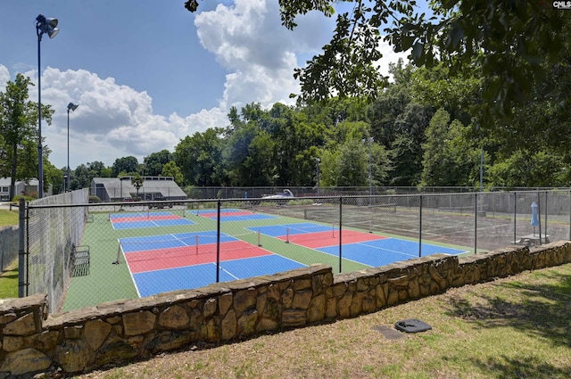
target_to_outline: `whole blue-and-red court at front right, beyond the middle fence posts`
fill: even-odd
[[[336,227],[315,223],[251,227],[249,230],[334,256],[339,256],[341,244],[343,259],[371,267],[385,266],[399,260],[411,260],[418,258],[419,255],[423,257],[436,253],[459,255],[468,252],[430,243],[419,245],[417,242],[400,238],[348,229],[343,230],[340,235]]]

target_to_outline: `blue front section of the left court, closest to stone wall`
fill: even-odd
[[[305,266],[294,260],[272,254],[263,257],[220,262],[219,281],[228,282],[251,276],[271,275]],[[161,292],[194,289],[216,283],[216,263],[147,271],[133,275],[139,296]]]

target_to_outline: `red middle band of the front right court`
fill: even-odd
[[[370,233],[355,232],[352,230],[343,230],[341,235],[342,243],[362,243],[366,241],[382,240],[387,237],[383,235],[373,235]],[[280,235],[277,237],[282,241],[295,243],[300,246],[309,247],[310,249],[319,249],[322,247],[333,246],[339,244],[339,230],[318,233],[303,233],[299,235]]]

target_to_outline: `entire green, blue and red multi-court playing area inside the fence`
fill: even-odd
[[[95,214],[82,241],[91,247],[90,274],[72,278],[63,309],[195,289],[317,263],[335,272],[349,272],[418,257],[418,243],[398,235],[343,228],[340,240],[337,224],[249,210],[221,209],[223,225],[217,231],[217,213]],[[420,249],[422,256],[464,252],[461,247],[426,243]]]

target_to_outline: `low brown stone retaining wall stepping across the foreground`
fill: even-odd
[[[571,242],[466,258],[436,254],[334,276],[315,265],[62,314],[37,294],[0,301],[0,377],[93,370],[195,342],[356,317],[448,288],[571,262]]]

